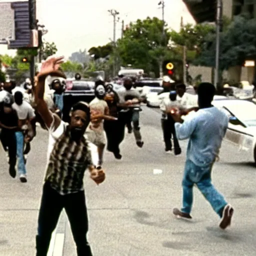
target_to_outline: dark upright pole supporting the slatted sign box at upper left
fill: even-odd
[[[30,29],[37,29],[36,25],[36,2],[35,0],[28,0],[29,5],[29,28]],[[34,75],[35,75],[35,60],[34,56],[30,56],[29,61],[29,69],[30,69],[30,81],[31,84],[34,85]]]

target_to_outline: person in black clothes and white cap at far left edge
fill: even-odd
[[[0,140],[4,151],[8,151],[9,174],[16,176],[16,136],[19,130],[17,112],[11,107],[14,102],[11,93],[6,90],[0,92]]]

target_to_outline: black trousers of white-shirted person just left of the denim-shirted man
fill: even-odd
[[[176,131],[174,126],[174,120],[171,117],[167,117],[167,119],[161,119],[161,126],[163,132],[163,140],[165,143],[165,148],[170,149],[172,147],[171,137],[173,138],[174,144],[174,153],[180,153],[180,146],[178,143],[178,139],[176,137]]]

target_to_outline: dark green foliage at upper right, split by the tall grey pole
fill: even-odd
[[[245,15],[234,17],[233,21],[220,34],[220,70],[242,65],[247,58],[256,59],[255,34],[256,19],[249,19]],[[215,36],[209,34],[195,64],[214,66],[215,46]]]

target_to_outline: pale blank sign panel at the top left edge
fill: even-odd
[[[14,10],[10,2],[0,2],[0,43],[15,39]]]

